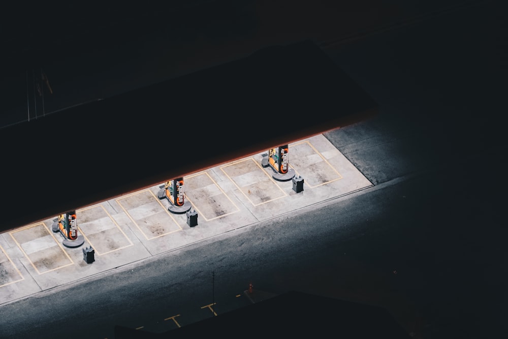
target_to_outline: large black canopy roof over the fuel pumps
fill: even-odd
[[[0,129],[0,231],[362,121],[377,105],[312,41]]]

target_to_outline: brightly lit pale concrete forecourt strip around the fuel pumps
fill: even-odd
[[[63,244],[54,219],[0,234],[0,304],[55,287],[80,283],[133,262],[269,220],[304,206],[372,187],[372,183],[322,134],[289,144],[289,165],[304,179],[273,178],[263,167],[266,153],[222,164],[184,177],[185,201],[198,213],[190,226],[186,213],[168,210],[159,199],[164,183],[76,210],[84,243]],[[39,192],[43,198],[43,193]],[[26,202],[27,208],[33,200]],[[311,227],[311,225],[309,225]],[[93,249],[93,262],[83,250]],[[90,258],[90,257],[88,257]]]

